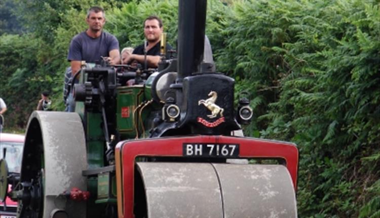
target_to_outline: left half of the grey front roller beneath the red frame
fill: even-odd
[[[222,217],[218,178],[208,163],[140,162],[147,213],[154,217]]]

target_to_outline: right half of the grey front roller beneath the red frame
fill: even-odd
[[[297,217],[295,193],[282,165],[213,163],[223,196],[224,217]]]

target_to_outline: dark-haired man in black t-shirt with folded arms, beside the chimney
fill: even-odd
[[[144,21],[144,35],[146,39],[146,62],[147,67],[158,67],[160,62],[161,50],[161,33],[163,32],[162,20],[157,16],[149,16]],[[144,44],[137,46],[126,62],[137,61],[144,63]],[[166,44],[166,50],[171,50],[172,47]]]

